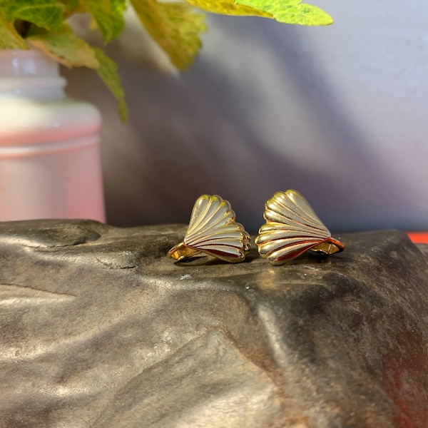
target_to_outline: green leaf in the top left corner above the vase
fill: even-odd
[[[22,19],[49,31],[59,31],[65,8],[58,0],[0,0],[0,9],[7,21]]]

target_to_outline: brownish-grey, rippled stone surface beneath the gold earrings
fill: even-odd
[[[0,224],[1,428],[428,426],[426,246],[175,265],[184,232]]]

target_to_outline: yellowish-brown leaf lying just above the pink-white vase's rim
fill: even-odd
[[[98,68],[100,65],[93,48],[86,41],[78,39],[67,24],[63,24],[58,33],[42,29],[32,30],[27,41],[68,68]]]

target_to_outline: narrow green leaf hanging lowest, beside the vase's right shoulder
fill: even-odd
[[[118,65],[113,59],[104,54],[101,49],[96,47],[92,49],[95,51],[96,58],[100,64],[100,66],[96,68],[96,72],[118,100],[119,116],[121,116],[123,122],[126,122],[128,120],[128,106],[126,105],[125,93],[121,86],[121,78],[118,75]]]

